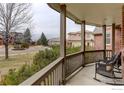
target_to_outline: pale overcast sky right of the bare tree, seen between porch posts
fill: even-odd
[[[45,33],[48,39],[59,37],[60,14],[58,12],[43,3],[33,3],[32,11],[34,28],[31,32],[33,39],[38,39],[42,32]],[[93,31],[94,27],[86,26],[86,29]],[[80,31],[80,25],[77,25],[70,19],[67,19],[67,33],[74,31]]]

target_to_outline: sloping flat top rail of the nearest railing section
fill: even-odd
[[[30,78],[22,82],[20,85],[33,85],[36,81],[38,81],[42,76],[46,75],[52,68],[54,68],[57,64],[59,64],[63,60],[63,57],[59,57],[54,62],[50,63],[45,68],[41,69],[39,72],[32,75]]]

